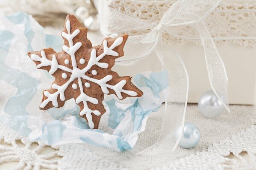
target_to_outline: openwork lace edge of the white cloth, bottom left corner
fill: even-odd
[[[18,141],[21,142],[21,146]],[[39,170],[41,167],[51,170],[57,169],[58,160],[51,159],[59,156],[59,151],[56,150],[50,154],[41,155],[40,152],[47,145],[38,141],[36,143],[37,147],[33,147],[34,143],[6,125],[0,124],[0,164],[18,161],[15,170],[30,170],[33,167],[34,170]]]

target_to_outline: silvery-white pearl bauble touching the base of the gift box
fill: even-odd
[[[225,111],[225,107],[213,91],[206,91],[200,96],[198,111],[207,118],[215,118]]]

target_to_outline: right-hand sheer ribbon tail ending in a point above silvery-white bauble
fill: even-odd
[[[227,72],[221,56],[212,40],[211,34],[203,21],[191,25],[200,34],[203,44],[206,68],[212,91],[222,102],[226,110],[230,113],[230,107],[227,96]]]

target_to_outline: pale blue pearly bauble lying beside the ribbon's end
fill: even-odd
[[[179,136],[180,128],[177,129],[176,137]],[[200,130],[192,123],[185,123],[179,146],[184,148],[195,147],[200,141]]]

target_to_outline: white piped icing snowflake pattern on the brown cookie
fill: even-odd
[[[61,86],[59,86],[57,84],[52,85],[53,89],[57,89],[57,91],[55,93],[50,94],[48,91],[44,91],[44,96],[46,96],[47,99],[45,99],[41,103],[40,107],[44,108],[49,102],[52,102],[54,107],[58,107],[59,106],[58,102],[57,102],[58,96],[60,96],[60,99],[62,101],[65,101],[65,94],[64,94],[65,90],[68,88],[68,85],[71,82],[73,82],[75,79],[78,79],[78,86],[80,89],[80,94],[76,99],[76,103],[79,104],[80,102],[83,102],[83,105],[84,105],[84,108],[80,112],[80,116],[85,115],[88,120],[89,127],[94,128],[94,123],[92,121],[91,113],[94,113],[95,115],[100,116],[100,111],[97,111],[97,110],[93,111],[90,108],[88,108],[87,102],[91,102],[91,103],[97,105],[99,101],[98,101],[98,99],[88,96],[84,93],[83,86],[82,86],[82,79],[86,79],[88,81],[91,81],[91,82],[94,82],[94,83],[97,83],[98,85],[100,85],[100,88],[104,94],[109,94],[108,88],[114,90],[119,99],[123,98],[121,95],[121,92],[128,94],[130,96],[138,95],[135,91],[127,91],[127,90],[123,89],[124,85],[126,84],[126,80],[121,80],[116,85],[109,85],[109,84],[106,84],[106,82],[108,82],[112,79],[112,75],[107,75],[106,77],[103,77],[103,79],[94,79],[94,78],[91,78],[91,77],[88,77],[85,75],[85,73],[88,70],[90,70],[93,65],[97,65],[100,68],[108,68],[108,66],[109,66],[108,63],[99,62],[99,61],[106,55],[118,56],[119,54],[116,51],[113,51],[113,49],[123,42],[123,37],[118,37],[110,47],[108,47],[108,45],[107,45],[107,40],[104,40],[103,41],[103,53],[97,57],[96,50],[92,49],[88,64],[86,65],[85,68],[79,69],[79,68],[77,68],[77,60],[75,57],[75,52],[81,47],[82,43],[77,42],[74,44],[73,38],[76,37],[80,31],[79,31],[79,29],[77,29],[71,34],[71,25],[70,25],[69,20],[67,20],[67,22],[66,22],[66,28],[67,28],[68,34],[65,32],[62,32],[62,36],[68,40],[69,47],[66,45],[63,45],[62,49],[71,56],[71,64],[72,64],[73,69],[67,68],[63,65],[58,65],[55,55],[53,55],[53,59],[50,61],[49,59],[46,58],[44,51],[41,51],[42,57],[39,57],[38,55],[35,55],[35,54],[31,55],[31,59],[41,62],[40,64],[38,64],[38,66],[37,66],[38,68],[40,68],[42,66],[50,65],[51,70],[49,72],[51,72],[51,74],[53,74],[58,68],[63,71],[67,71],[67,72],[71,73],[70,79],[68,79],[68,81],[65,82],[63,85],[61,85]],[[79,62],[81,63],[81,59]],[[67,64],[67,63],[65,62],[65,64]],[[93,72],[94,71],[92,71],[92,74],[94,75]],[[95,71],[95,72],[97,74],[97,71]],[[63,73],[62,77],[67,78],[67,74],[65,74],[65,75],[66,76],[64,76],[64,73]],[[90,85],[90,83],[88,83],[88,84],[85,83],[85,87],[90,87],[88,85]],[[77,89],[77,85],[72,84],[72,88]]]

